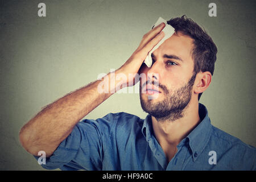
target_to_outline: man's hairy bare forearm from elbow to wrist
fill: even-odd
[[[84,86],[44,107],[20,130],[19,137],[23,147],[33,155],[37,155],[40,150],[46,151],[47,156],[51,155],[60,142],[68,137],[77,122],[114,93],[110,91],[110,86],[107,92],[98,92],[102,80]]]

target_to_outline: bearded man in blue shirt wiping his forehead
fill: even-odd
[[[152,53],[165,24],[143,36],[133,55],[115,71],[40,111],[20,130],[23,147],[38,159],[45,151],[47,169],[86,170],[255,170],[256,150],[213,127],[199,104],[208,88],[217,48],[210,36],[186,16],[167,22],[175,34]],[[138,80],[145,119],[110,113],[84,119],[114,92]],[[107,78],[107,79],[106,79]],[[114,79],[114,88],[113,86]],[[103,81],[107,84],[102,85]],[[136,81],[137,80],[137,81]],[[99,92],[102,87],[108,92]],[[152,99],[153,98],[153,99]]]

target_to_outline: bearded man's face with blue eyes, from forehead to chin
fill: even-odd
[[[182,111],[191,100],[196,77],[192,48],[193,39],[178,32],[152,53],[150,68],[142,65],[141,73],[147,77],[140,82],[142,109],[159,121],[183,117]]]

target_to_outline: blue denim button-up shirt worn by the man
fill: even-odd
[[[255,170],[256,148],[210,124],[199,104],[201,122],[177,146],[168,162],[154,136],[151,116],[110,113],[84,119],[42,167],[63,170]],[[38,157],[35,156],[36,159]]]

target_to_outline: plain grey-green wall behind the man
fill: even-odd
[[[46,17],[38,17],[38,3]],[[210,2],[217,17],[208,16]],[[20,128],[43,106],[121,66],[159,16],[186,14],[218,47],[200,102],[212,124],[256,146],[256,1],[0,1],[0,169],[43,170],[21,147]],[[114,94],[86,118],[145,117],[139,94]]]

